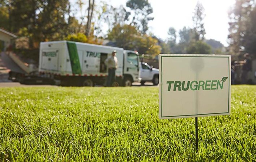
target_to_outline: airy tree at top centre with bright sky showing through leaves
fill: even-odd
[[[154,19],[149,16],[153,13],[153,8],[148,0],[128,0],[126,6],[134,11],[131,25],[145,34],[148,31],[148,22]]]

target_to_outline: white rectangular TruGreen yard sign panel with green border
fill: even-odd
[[[159,55],[159,118],[230,114],[230,55]]]

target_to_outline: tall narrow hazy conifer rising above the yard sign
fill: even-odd
[[[205,28],[204,28],[204,7],[197,1],[194,16],[192,17],[194,23],[194,39],[196,41],[204,40]]]

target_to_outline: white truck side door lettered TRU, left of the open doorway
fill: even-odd
[[[101,53],[84,51],[82,72],[86,74],[99,73]]]

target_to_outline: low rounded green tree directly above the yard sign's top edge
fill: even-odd
[[[187,54],[211,54],[211,47],[203,41],[191,41],[186,50]]]

